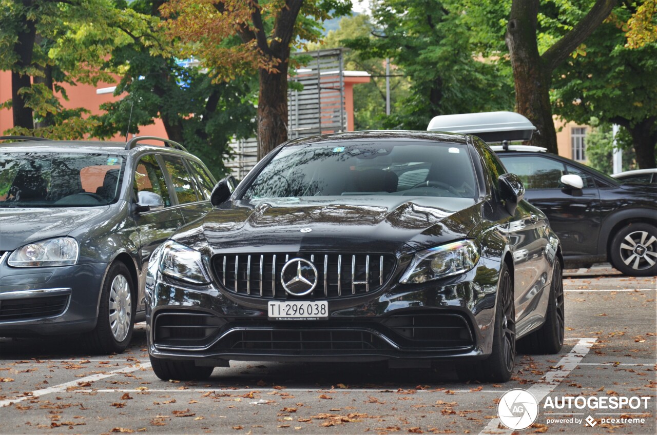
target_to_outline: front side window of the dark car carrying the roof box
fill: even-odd
[[[525,189],[558,189],[566,168],[551,158],[539,156],[500,156],[508,172],[522,179]]]

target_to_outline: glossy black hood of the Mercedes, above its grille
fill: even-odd
[[[212,252],[400,252],[466,237],[481,220],[469,198],[277,198],[223,204],[174,239]],[[310,231],[308,231],[310,230]]]

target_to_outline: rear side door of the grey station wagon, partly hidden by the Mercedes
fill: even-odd
[[[162,161],[168,172],[173,187],[173,193],[177,197],[180,212],[189,223],[212,210],[210,196],[205,196],[204,191],[198,187],[198,180],[186,164],[186,159],[172,154],[162,154]]]

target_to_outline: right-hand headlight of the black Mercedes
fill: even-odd
[[[479,246],[475,240],[459,240],[417,252],[402,284],[418,284],[434,279],[459,275],[472,269],[479,261]]]

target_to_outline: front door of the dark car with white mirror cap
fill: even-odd
[[[499,154],[510,173],[520,176],[525,199],[540,208],[561,240],[565,256],[597,254],[600,235],[600,193],[591,175],[549,156]],[[561,175],[576,173],[583,189],[562,185]]]

